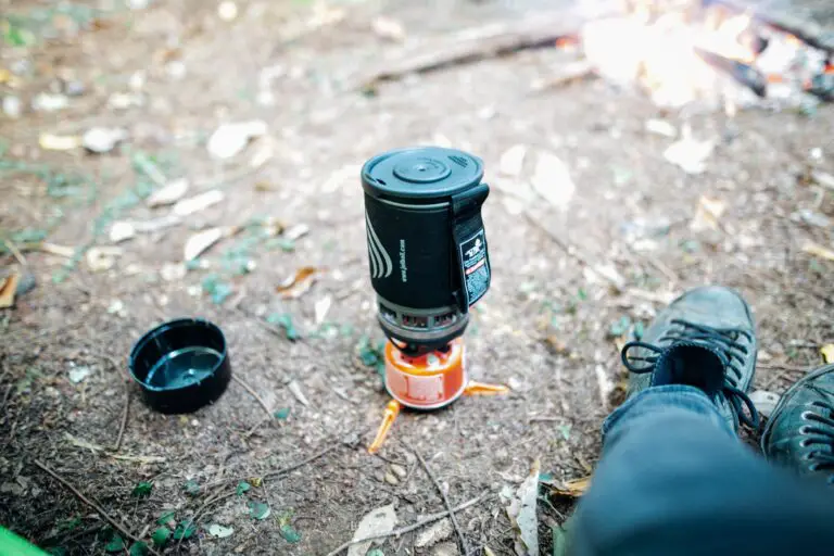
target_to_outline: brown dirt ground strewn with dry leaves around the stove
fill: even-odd
[[[39,462],[149,544],[165,511],[178,522],[195,517],[197,531],[169,542],[165,554],[324,555],[374,508],[393,504],[399,526],[443,509],[416,451],[453,505],[488,494],[458,514],[470,548],[510,555],[517,535],[500,492],[515,489],[535,459],[554,480],[591,472],[611,408],[599,378],[621,381],[618,342],[665,300],[703,283],[738,289],[763,351],[756,388],[781,392],[818,365],[820,346],[834,341],[826,279],[834,263],[801,248],[831,249],[834,240],[831,225],[820,224],[834,217],[834,197],[806,179],[812,169],[834,172],[830,106],[813,115],[693,115],[693,132],[718,146],[703,174],[687,175],[662,156],[672,140],[645,129],[657,117],[680,126],[681,116],[660,114],[645,96],[601,79],[531,91],[564,63],[555,49],[355,88],[380,55],[400,48],[370,30],[380,13],[402,22],[407,40],[430,42],[545,3],[333,2],[344,17],[331,23],[304,2],[240,1],[227,22],[215,2],[161,0],[83,14],[97,20],[79,31],[75,15],[64,14],[54,39],[3,47],[0,73],[23,71],[17,83],[0,79],[0,96],[11,91],[28,106],[58,78],[84,91],[58,112],[0,114],[2,265],[24,269],[9,252],[20,245],[35,280],[0,313],[0,523],[55,554],[104,553],[108,523]],[[38,5],[15,0],[0,10]],[[263,77],[264,68],[275,78]],[[114,108],[114,93],[140,100]],[[214,129],[249,119],[267,124],[266,138],[229,161],[213,160],[205,143]],[[128,139],[101,155],[39,148],[43,132],[94,126],[125,128]],[[471,151],[495,186],[483,208],[494,278],[466,340],[473,377],[513,392],[405,413],[371,456],[365,447],[388,396],[361,357],[381,332],[358,167],[417,143]],[[568,210],[530,202],[496,175],[514,144],[568,165],[577,184]],[[119,243],[112,266],[94,271],[85,250],[110,245],[113,222],[170,212],[141,201],[155,187],[141,161],[167,178],[189,178],[189,194],[217,188],[225,198]],[[532,154],[523,175],[531,164]],[[702,197],[725,211],[713,229],[693,230]],[[809,224],[796,216],[801,211],[818,218]],[[266,238],[270,218],[309,232],[293,244]],[[243,229],[177,275],[186,240],[215,226]],[[71,248],[70,257],[45,252],[41,241]],[[323,269],[311,291],[296,300],[276,293],[304,266]],[[619,288],[602,277],[605,268],[622,278]],[[315,306],[328,296],[332,305],[317,324]],[[286,315],[298,341],[276,325]],[[219,325],[235,376],[269,413],[289,414],[268,416],[240,382],[193,415],[150,410],[138,388],[125,386],[127,354],[147,329],[178,316]],[[76,380],[78,369],[89,374]],[[111,452],[127,399],[121,446]],[[252,488],[237,495],[244,480]],[[134,495],[141,481],[153,484],[144,497]],[[549,526],[564,521],[571,503],[542,497],[540,534],[549,551]],[[250,503],[268,504],[270,515],[253,518]],[[217,538],[211,525],[233,533]],[[378,548],[455,554],[454,536],[415,548],[417,534]]]

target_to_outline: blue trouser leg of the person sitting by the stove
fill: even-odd
[[[834,490],[768,465],[700,390],[646,389],[603,434],[569,554],[834,554]]]

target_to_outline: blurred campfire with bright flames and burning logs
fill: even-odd
[[[631,0],[574,41],[590,67],[660,108],[812,108],[834,100],[834,45],[807,24],[728,0]]]

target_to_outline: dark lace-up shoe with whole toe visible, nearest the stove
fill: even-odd
[[[695,386],[737,431],[741,422],[758,427],[758,413],[747,397],[756,353],[747,303],[729,288],[707,286],[674,300],[621,355],[631,371],[629,397],[653,386]]]

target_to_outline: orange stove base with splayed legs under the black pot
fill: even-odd
[[[386,406],[377,435],[368,446],[375,454],[386,441],[388,432],[402,407],[439,409],[462,395],[494,395],[509,392],[503,384],[468,381],[466,349],[457,338],[443,350],[425,354],[408,354],[393,342],[386,343],[386,389],[393,400]]]

